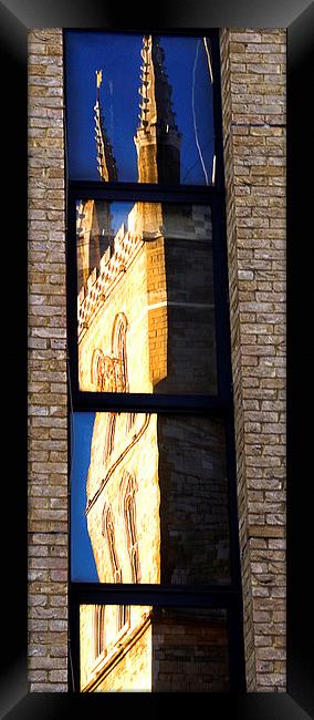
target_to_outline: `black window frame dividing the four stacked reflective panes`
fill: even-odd
[[[64,48],[66,32],[64,29]],[[75,31],[80,29],[75,28]],[[97,28],[95,31],[100,32]],[[86,32],[85,29],[81,30]],[[88,29],[88,32],[92,32]],[[111,33],[109,30],[104,32]],[[115,34],[130,34],[129,31],[114,31]],[[220,90],[219,31],[201,30],[134,30],[132,34],[158,34],[174,37],[206,37],[211,43],[213,65],[213,119],[216,184],[203,185],[149,185],[140,183],[104,183],[98,181],[71,181],[66,168],[66,263],[67,263],[67,352],[69,352],[69,409],[74,412],[156,412],[186,413],[205,416],[220,416],[226,428],[227,473],[229,481],[229,528],[230,528],[230,574],[229,585],[133,585],[80,583],[71,579],[71,546],[69,562],[70,589],[70,634],[69,634],[69,687],[80,692],[80,605],[159,605],[212,607],[227,609],[230,691],[245,691],[243,611],[241,589],[241,567],[239,549],[236,448],[233,424],[233,387],[231,370],[229,286],[227,264],[226,197],[222,144],[222,109]],[[66,50],[64,50],[64,65]],[[65,107],[66,107],[66,88]],[[142,200],[210,205],[213,247],[213,289],[217,352],[217,394],[148,394],[85,392],[78,389],[77,362],[77,277],[76,277],[76,213],[77,199]],[[71,422],[69,422],[71,428]],[[70,433],[69,433],[70,434]],[[71,470],[71,436],[69,442],[69,466]],[[71,493],[70,502],[71,502]],[[71,508],[69,508],[71,533]]]

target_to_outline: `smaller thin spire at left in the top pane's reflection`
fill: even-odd
[[[97,143],[97,162],[98,162],[98,173],[106,183],[111,181],[117,181],[117,167],[116,161],[113,155],[113,148],[109,143],[108,137],[106,136],[104,127],[104,116],[101,107],[100,99],[100,88],[103,80],[102,70],[96,70],[96,83],[97,83],[97,95],[96,104],[94,106],[95,111],[95,140]]]

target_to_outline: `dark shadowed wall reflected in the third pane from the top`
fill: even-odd
[[[157,443],[160,583],[226,585],[230,538],[223,423],[159,414]]]

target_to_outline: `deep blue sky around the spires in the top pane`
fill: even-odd
[[[182,134],[181,184],[210,184],[213,162],[212,84],[202,38],[160,37]],[[134,135],[139,124],[143,37],[66,32],[69,171],[72,179],[98,181],[94,105],[96,70],[103,71],[101,103],[118,179],[137,182]]]

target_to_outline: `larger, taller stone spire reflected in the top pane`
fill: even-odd
[[[142,58],[140,124],[134,138],[140,183],[180,182],[181,135],[171,103],[171,85],[165,71],[159,40],[144,35]]]

